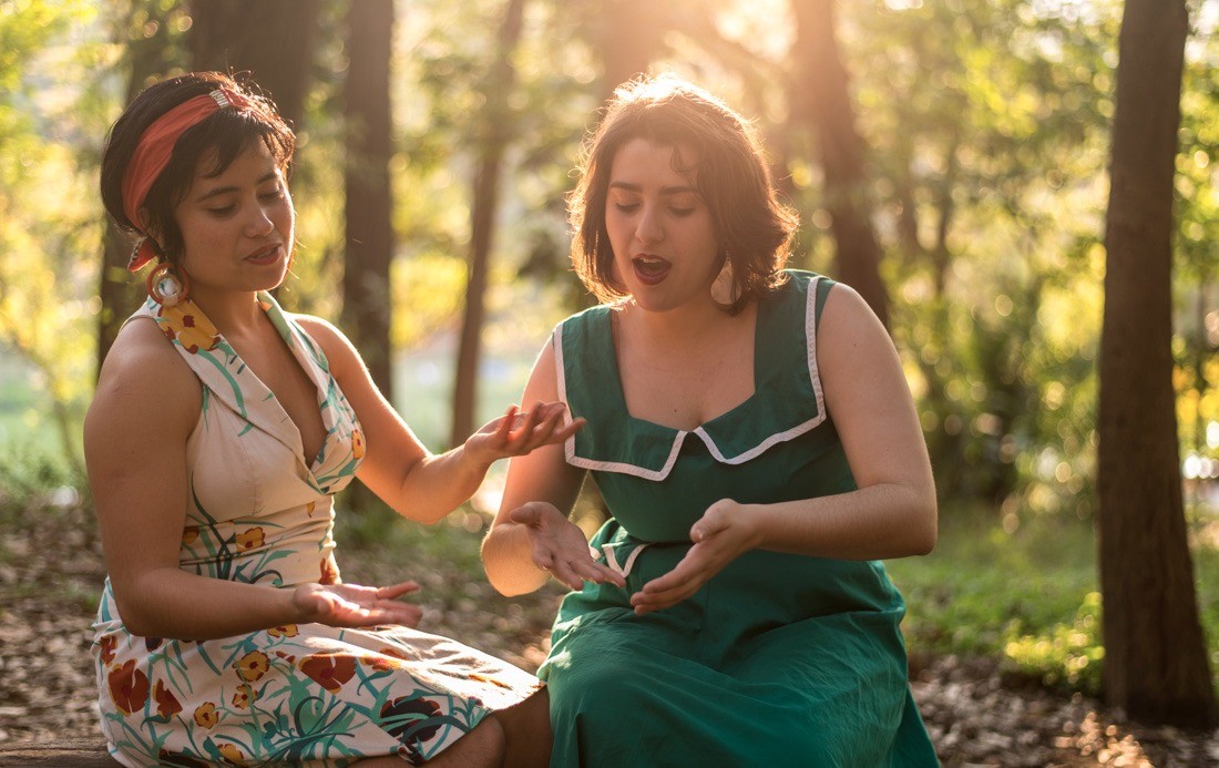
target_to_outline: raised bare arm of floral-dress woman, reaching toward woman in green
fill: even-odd
[[[435,523],[468,500],[495,461],[561,443],[579,429],[563,427],[561,404],[535,402],[483,427],[464,445],[433,455],[373,384],[360,354],[334,325],[296,317],[325,352],[330,372],[364,432],[366,456],[356,477],[399,514]],[[527,401],[531,402],[531,401]]]

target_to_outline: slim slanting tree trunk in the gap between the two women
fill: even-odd
[[[513,130],[508,95],[516,87],[517,72],[512,54],[521,39],[524,0],[508,0],[500,26],[499,60],[486,80],[484,122],[474,171],[474,205],[471,212],[469,272],[466,283],[466,310],[457,347],[457,378],[453,385],[453,423],[450,445],[461,445],[474,432],[478,406],[478,361],[485,322],[488,265],[495,232],[495,211],[500,201],[500,172],[503,154]]]

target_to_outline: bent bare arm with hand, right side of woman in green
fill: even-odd
[[[935,546],[931,463],[901,362],[875,315],[845,285],[822,312],[817,366],[858,490],[773,505],[716,502],[691,528],[686,558],[633,597],[639,612],[685,600],[752,549],[880,560]]]

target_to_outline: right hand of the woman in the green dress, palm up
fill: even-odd
[[[757,518],[746,505],[722,499],[690,528],[694,546],[673,571],[652,579],[630,596],[636,616],[675,606],[690,597],[742,553],[761,541]]]

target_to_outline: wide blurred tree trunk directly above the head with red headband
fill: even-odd
[[[284,119],[299,128],[319,9],[321,0],[191,0],[190,66],[249,71]]]

